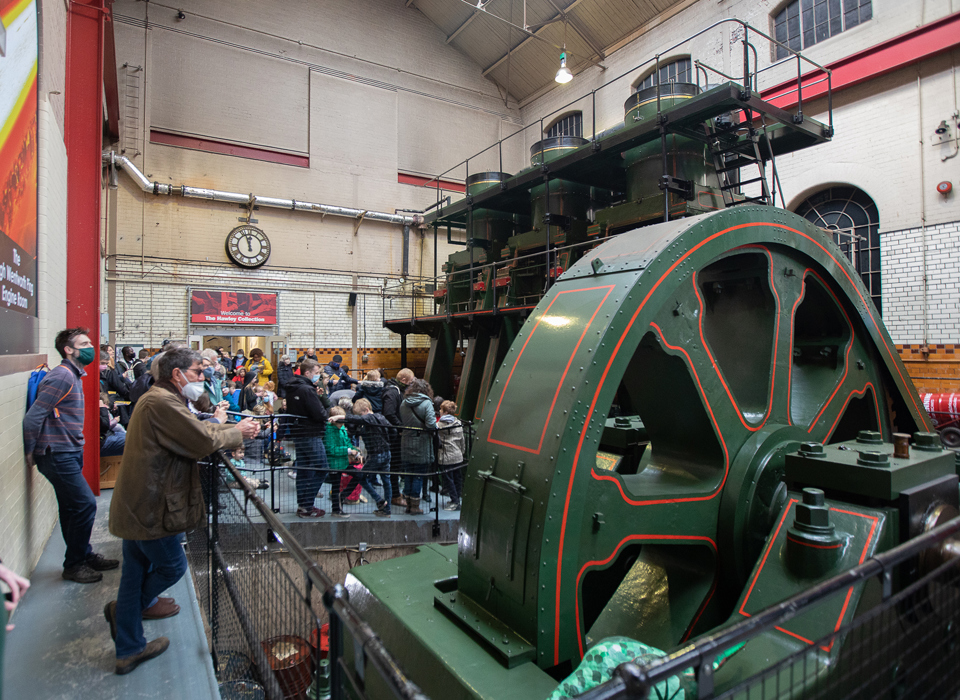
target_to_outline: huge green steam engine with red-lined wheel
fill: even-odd
[[[428,220],[468,247],[436,315],[388,325],[431,335],[444,395],[469,339],[458,543],[347,581],[426,693],[545,698],[601,639],[675,648],[956,513],[954,455],[850,261],[769,206],[769,160],[831,137],[743,85],[655,86],[622,126],[541,140]],[[764,633],[716,688],[877,600],[855,584]]]

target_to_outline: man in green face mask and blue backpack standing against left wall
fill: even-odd
[[[37,398],[23,417],[23,449],[27,466],[37,469],[53,484],[60,509],[60,531],[67,544],[63,578],[96,583],[101,571],[120,562],[95,554],[90,532],[97,501],[83,478],[83,368],[99,354],[85,328],[57,333],[54,345],[63,358],[47,372],[37,388]]]

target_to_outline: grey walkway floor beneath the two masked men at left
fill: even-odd
[[[119,559],[120,540],[107,531],[112,493],[104,491],[97,499],[91,543],[95,551]],[[16,628],[7,634],[4,698],[219,700],[189,571],[166,594],[177,599],[180,614],[144,622],[147,639],[168,637],[170,648],[133,673],[117,676],[103,606],[116,598],[120,570],[105,571],[100,583],[64,581],[60,577],[63,553],[58,525],[30,578],[30,590],[14,614]]]

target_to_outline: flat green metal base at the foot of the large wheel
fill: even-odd
[[[557,681],[525,653],[532,649],[529,644],[502,624],[490,625],[477,615],[459,624],[453,620],[456,556],[454,545],[429,545],[401,559],[356,567],[346,581],[350,601],[431,698],[546,698]],[[442,607],[438,599],[449,607]],[[465,615],[467,610],[458,612]],[[345,652],[347,662],[353,663],[352,647]],[[505,659],[510,656],[515,661],[508,668]],[[368,694],[387,697],[372,689]]]

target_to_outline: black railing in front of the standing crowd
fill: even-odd
[[[358,423],[351,416],[354,422],[341,431],[337,425],[328,428],[288,414],[229,416],[254,418],[261,429],[241,448],[225,453],[240,475],[234,479],[231,472],[227,483],[238,491],[249,486],[274,513],[406,515],[406,505],[398,501],[413,497],[419,503],[410,505],[422,511],[413,516],[432,518],[434,536],[440,534],[441,517],[458,516],[474,436],[470,421],[415,428]],[[349,454],[331,454],[328,430],[340,433],[338,440],[348,443]]]

